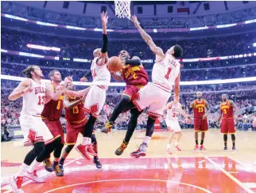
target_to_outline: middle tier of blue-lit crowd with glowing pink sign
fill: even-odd
[[[126,39],[129,39],[126,36]],[[21,32],[2,28],[2,49],[24,51],[33,54],[62,56],[68,58],[90,59],[95,48],[102,46],[102,40],[81,39],[70,36],[52,36],[35,32]],[[154,40],[157,46],[167,51],[171,45],[180,44],[184,49],[182,58],[207,58],[210,56],[227,56],[254,53],[252,44],[256,42],[254,32],[234,36],[218,36],[190,40]],[[27,44],[37,44],[47,47],[60,47],[61,51],[41,51],[26,47]],[[139,49],[138,49],[139,47]],[[109,40],[109,55],[117,55],[119,51],[130,51],[141,59],[154,59],[153,52],[143,40]]]

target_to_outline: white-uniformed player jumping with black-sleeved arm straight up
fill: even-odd
[[[106,91],[111,82],[111,73],[107,70],[107,13],[101,13],[101,19],[103,21],[103,47],[93,52],[95,57],[91,63],[93,81],[91,89],[87,94],[87,99],[84,102],[84,110],[90,113],[90,116],[84,127],[83,142],[79,146],[76,146],[76,150],[88,160],[91,159],[89,155],[97,157],[97,153],[95,153],[91,146],[91,135],[99,112],[103,109],[106,100]]]

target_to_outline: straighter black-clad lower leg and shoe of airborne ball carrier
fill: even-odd
[[[141,114],[142,112],[139,112],[137,108],[130,109],[130,120],[128,123],[128,129],[126,131],[126,137],[122,141],[121,146],[119,146],[118,149],[116,149],[114,152],[117,156],[120,156],[123,153],[124,149],[126,149],[126,147],[128,146],[130,138],[133,136],[134,130],[137,126],[138,116]]]

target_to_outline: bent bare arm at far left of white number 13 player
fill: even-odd
[[[8,96],[8,100],[17,100],[19,97],[23,96],[25,93],[31,93],[33,88],[30,86],[30,79],[25,78],[25,80],[21,81],[17,88],[14,89],[10,96]]]

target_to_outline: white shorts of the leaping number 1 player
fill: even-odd
[[[162,89],[153,83],[149,83],[135,94],[133,102],[139,111],[149,107],[147,112],[149,115],[161,117],[171,95],[170,90]]]

